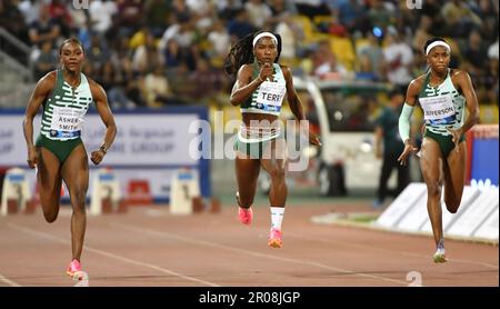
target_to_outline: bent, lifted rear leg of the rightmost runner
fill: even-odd
[[[462,200],[463,186],[466,183],[466,142],[458,144],[458,150],[451,150],[444,165],[444,203],[448,211],[456,213]]]

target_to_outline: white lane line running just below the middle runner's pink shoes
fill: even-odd
[[[167,238],[176,239],[176,240],[188,242],[188,243],[194,243],[194,245],[199,245],[199,246],[213,247],[213,248],[224,249],[224,250],[233,251],[233,252],[238,252],[238,253],[244,253],[247,256],[254,256],[254,257],[259,257],[259,258],[267,258],[267,259],[278,260],[278,261],[282,261],[282,262],[296,263],[296,265],[312,266],[312,267],[318,267],[318,268],[322,268],[322,269],[343,272],[346,275],[354,275],[354,276],[366,277],[366,278],[370,278],[370,279],[377,279],[377,280],[383,280],[383,281],[388,281],[388,282],[392,282],[392,283],[403,285],[403,286],[409,285],[408,281],[403,281],[403,280],[396,280],[396,279],[390,279],[390,278],[386,278],[386,277],[380,277],[380,276],[374,276],[374,275],[369,275],[369,273],[363,273],[363,272],[357,272],[357,271],[347,270],[347,269],[342,269],[342,268],[331,267],[331,266],[314,262],[314,261],[290,259],[290,258],[277,257],[277,256],[272,256],[272,255],[259,253],[259,252],[254,252],[251,250],[233,248],[233,247],[220,245],[220,243],[212,242],[212,241],[198,240],[198,239],[193,239],[190,237],[179,236],[179,235],[164,232],[164,231],[136,228],[136,227],[122,225],[122,223],[110,223],[110,225],[126,229],[126,230],[131,230],[134,232],[149,233],[149,235],[153,235],[153,236],[158,236],[158,237],[167,237]]]

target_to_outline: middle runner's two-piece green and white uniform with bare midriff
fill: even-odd
[[[253,64],[252,79],[259,76],[259,67],[257,62]],[[241,113],[267,113],[279,116],[281,104],[287,93],[287,82],[284,80],[281,67],[272,63],[273,76],[272,81],[263,81],[259,88],[240,106]],[[264,149],[276,140],[282,137],[280,127],[277,128],[246,128],[241,127],[234,149],[250,156],[253,159],[262,158]]]

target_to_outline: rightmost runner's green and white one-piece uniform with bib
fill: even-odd
[[[419,93],[419,103],[423,109],[426,134],[434,139],[448,157],[454,148],[451,133],[448,129],[460,129],[463,126],[466,98],[454,88],[451,81],[450,69],[444,81],[438,87],[429,84],[430,72]],[[460,142],[463,141],[463,136]]]

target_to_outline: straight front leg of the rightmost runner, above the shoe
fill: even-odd
[[[427,210],[432,225],[432,233],[438,245],[442,238],[442,158],[436,140],[424,138],[421,148],[420,169],[427,185]]]

